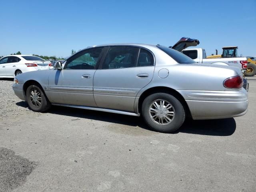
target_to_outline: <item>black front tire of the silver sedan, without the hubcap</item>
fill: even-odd
[[[41,100],[40,104],[37,102],[34,102],[32,98],[30,98],[30,94],[32,94],[32,91],[34,93],[38,93],[39,99],[38,101]],[[32,95],[31,95],[32,96]],[[30,85],[27,90],[26,90],[26,99],[28,102],[28,106],[32,111],[35,112],[44,112],[48,110],[51,107],[51,103],[46,97],[45,93],[41,88],[37,85]],[[37,106],[38,105],[38,106]]]

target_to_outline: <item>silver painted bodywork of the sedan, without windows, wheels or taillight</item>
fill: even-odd
[[[120,45],[150,50],[154,54],[155,65],[28,72],[17,77],[20,84],[13,85],[14,92],[25,100],[22,84],[35,80],[54,105],[139,116],[140,96],[148,89],[165,87],[177,91],[184,98],[193,119],[229,118],[246,113],[246,90],[223,86],[226,78],[241,75],[239,68],[214,64],[178,64],[155,45],[101,46]],[[91,77],[83,79],[83,74],[90,74]],[[145,76],[139,78],[138,74]]]

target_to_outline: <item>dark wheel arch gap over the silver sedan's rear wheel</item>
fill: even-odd
[[[174,96],[176,99],[178,99],[184,106],[186,116],[191,117],[190,109],[189,109],[188,104],[187,104],[186,100],[184,99],[184,97],[178,91],[176,91],[172,88],[169,88],[169,87],[165,87],[165,86],[157,86],[157,87],[152,87],[152,88],[145,90],[140,95],[140,98],[138,100],[138,112],[141,113],[142,103],[147,96],[154,94],[154,93],[159,93],[159,92],[170,94],[170,95]]]

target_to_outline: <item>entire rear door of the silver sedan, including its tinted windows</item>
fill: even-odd
[[[110,46],[94,74],[94,99],[98,107],[134,112],[138,92],[150,83],[154,56],[136,46]]]

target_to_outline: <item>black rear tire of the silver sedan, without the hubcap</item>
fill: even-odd
[[[150,108],[151,105],[153,104],[153,102],[158,100],[164,100],[166,103],[169,102],[169,104],[172,105],[173,107],[173,111],[174,111],[174,117],[172,119],[171,122],[169,122],[169,124],[157,124],[157,122],[155,122],[152,119],[152,113],[150,113]],[[167,106],[164,106],[164,108],[168,108]],[[162,110],[160,110],[161,113],[163,112]],[[158,114],[160,114],[160,111],[158,112]],[[151,94],[150,96],[146,97],[142,103],[142,116],[146,122],[146,124],[154,131],[157,132],[164,132],[164,133],[171,133],[174,132],[176,130],[178,130],[178,128],[180,128],[180,126],[182,126],[183,122],[185,121],[185,110],[184,107],[182,106],[181,102],[175,98],[174,96],[167,94],[167,93],[154,93]],[[170,116],[169,116],[170,117]],[[171,118],[171,117],[170,117]],[[160,119],[160,118],[158,118]],[[158,120],[157,120],[158,121]]]

